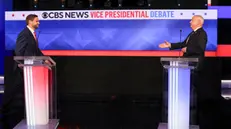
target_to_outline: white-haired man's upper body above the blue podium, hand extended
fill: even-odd
[[[195,15],[190,21],[192,32],[183,42],[169,43],[165,41],[160,44],[160,48],[169,48],[170,50],[179,49],[184,53],[184,57],[204,57],[207,44],[207,33],[203,29],[204,18],[200,15]]]

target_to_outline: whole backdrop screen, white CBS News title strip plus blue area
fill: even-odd
[[[93,15],[101,14],[98,12],[102,16]],[[206,49],[217,48],[216,10],[88,10],[7,12],[7,50],[14,49],[16,37],[25,27],[25,16],[30,13],[38,14],[41,20],[37,35],[42,50],[166,51],[158,45],[164,40],[180,41],[180,30],[184,40],[192,31],[189,22],[193,15],[206,19]],[[71,13],[74,15],[70,18]],[[136,15],[132,17],[132,13]]]

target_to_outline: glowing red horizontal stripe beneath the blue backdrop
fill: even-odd
[[[231,57],[231,45],[218,45],[217,51],[206,51],[206,57]],[[59,51],[44,50],[49,56],[182,56],[179,51]]]

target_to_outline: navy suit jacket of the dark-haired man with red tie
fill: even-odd
[[[15,47],[16,56],[43,56],[43,53],[37,46],[31,31],[26,27],[22,30],[17,38]]]

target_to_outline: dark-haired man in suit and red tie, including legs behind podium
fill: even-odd
[[[39,27],[37,15],[26,17],[27,26],[19,33],[14,56],[43,56],[38,47],[35,30]],[[48,61],[46,63],[49,63]],[[12,83],[5,86],[2,114],[4,128],[13,128],[24,118],[24,80],[23,70],[14,62]]]

